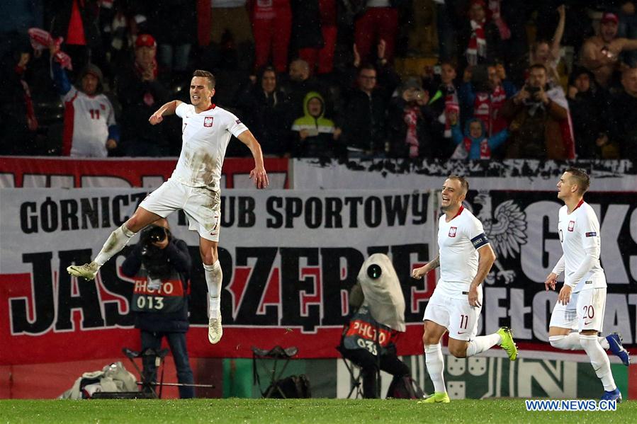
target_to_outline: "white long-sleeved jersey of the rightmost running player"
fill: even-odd
[[[560,207],[558,233],[562,251],[564,252],[564,277],[569,281],[580,264],[586,258],[586,248],[601,248],[602,242],[599,238],[599,221],[592,207],[582,200],[573,212],[568,214],[566,205]],[[606,287],[606,277],[602,265],[599,264],[599,257],[593,267],[586,275],[577,282],[573,289],[574,293],[580,290]]]

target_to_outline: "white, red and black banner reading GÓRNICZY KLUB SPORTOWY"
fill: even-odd
[[[135,345],[133,280],[120,270],[127,247],[95,281],[66,268],[89,262],[133,213],[145,189],[0,189],[0,365],[117,356]],[[409,352],[422,350],[424,302],[433,285],[412,280],[430,256],[429,194],[390,190],[224,190],[219,258],[224,336],[208,343],[198,235],[169,218],[191,248],[192,357],[251,357],[252,345],[295,345],[300,357],[334,357],[349,314],[348,292],[363,260],[383,252],[402,282]],[[130,244],[136,243],[135,237]],[[432,280],[433,281],[433,280]],[[71,348],[72,347],[72,348]]]

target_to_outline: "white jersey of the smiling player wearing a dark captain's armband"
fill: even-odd
[[[449,297],[466,299],[478,273],[478,248],[488,243],[483,224],[470,211],[461,207],[449,222],[442,214],[438,222],[440,280],[436,290]]]

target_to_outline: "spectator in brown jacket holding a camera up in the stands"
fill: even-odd
[[[509,98],[500,115],[510,122],[506,159],[567,159],[563,137],[568,103],[560,86],[547,83],[543,64],[529,67],[529,79],[514,97]]]

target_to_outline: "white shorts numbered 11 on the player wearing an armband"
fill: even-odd
[[[482,290],[479,292],[478,300],[482,304]],[[470,306],[468,297],[466,299],[454,299],[439,290],[434,290],[434,294],[427,302],[424,309],[422,321],[433,321],[449,331],[449,337],[456,340],[471,340],[478,333],[478,319],[482,306]]]

